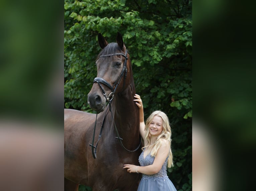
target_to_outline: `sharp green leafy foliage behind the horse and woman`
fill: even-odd
[[[97,75],[97,35],[115,42],[119,31],[130,53],[145,118],[160,109],[170,119],[174,167],[168,176],[177,190],[191,190],[192,2],[64,2],[65,107],[93,112],[87,94]]]

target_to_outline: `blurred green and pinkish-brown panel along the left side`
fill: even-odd
[[[0,190],[63,190],[63,3],[0,2]]]

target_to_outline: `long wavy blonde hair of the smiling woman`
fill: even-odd
[[[144,147],[142,147],[142,149],[144,150],[145,148],[150,146],[150,134],[149,134],[148,125],[152,122],[154,116],[159,116],[162,118],[163,130],[162,130],[162,133],[156,138],[156,141],[153,144],[154,149],[151,151],[151,156],[156,155],[158,149],[162,146],[163,141],[166,140],[170,147],[169,157],[168,157],[168,161],[167,161],[167,167],[170,168],[171,166],[173,166],[172,152],[171,152],[171,127],[170,127],[169,119],[163,111],[156,110],[156,111],[152,112],[149,115],[149,117],[147,118],[147,121],[145,124],[145,131],[146,131],[145,137],[146,137],[148,144],[145,145]]]

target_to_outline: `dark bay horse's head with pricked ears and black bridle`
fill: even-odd
[[[130,64],[130,60],[120,33],[117,33],[116,43],[108,43],[99,33],[98,42],[102,51],[96,61],[97,78],[88,94],[88,104],[101,112],[106,108],[106,101],[111,101],[115,94],[126,89],[127,63]]]

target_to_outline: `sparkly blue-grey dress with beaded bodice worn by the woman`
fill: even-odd
[[[149,153],[144,159],[143,154],[144,151],[142,151],[139,156],[140,166],[148,166],[153,164],[155,157],[152,157]],[[177,191],[167,176],[167,160],[168,156],[158,173],[152,175],[142,174],[142,178],[137,191]]]

